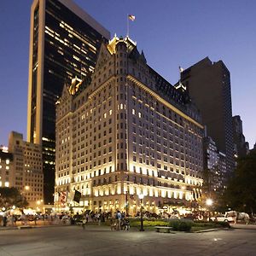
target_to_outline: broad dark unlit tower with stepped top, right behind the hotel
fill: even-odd
[[[212,137],[219,151],[226,155],[229,177],[234,171],[234,142],[230,72],[223,61],[212,62],[208,57],[181,73],[181,82],[201,111],[207,125],[207,135]]]

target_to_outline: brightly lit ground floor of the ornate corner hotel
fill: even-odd
[[[152,189],[150,192],[148,189],[143,190],[137,186],[137,188],[125,189],[125,192],[121,194],[100,195],[97,192],[96,195],[82,195],[79,202],[73,201],[68,195],[67,201],[61,202],[56,196],[54,211],[83,213],[86,210],[93,212],[116,212],[119,210],[130,216],[135,216],[143,206],[143,212],[185,214],[189,208],[193,207],[193,204],[195,205],[193,192],[189,190],[156,189],[154,191]]]

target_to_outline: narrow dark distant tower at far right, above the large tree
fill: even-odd
[[[242,121],[240,115],[233,116],[233,135],[235,145],[235,156],[245,157],[249,153],[249,146],[242,133]]]

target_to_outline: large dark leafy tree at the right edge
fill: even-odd
[[[235,176],[224,193],[224,203],[240,212],[256,212],[256,150],[238,160]]]

